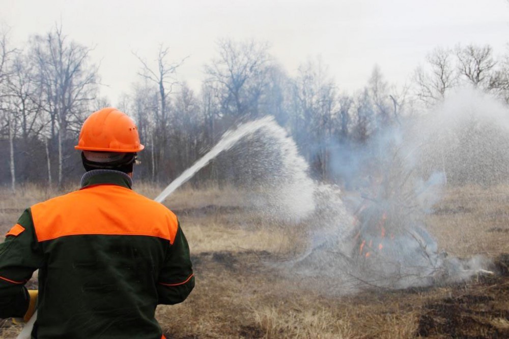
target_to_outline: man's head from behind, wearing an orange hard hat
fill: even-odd
[[[87,171],[112,169],[132,173],[140,144],[134,121],[116,108],[106,107],[92,113],[84,122],[75,149]]]

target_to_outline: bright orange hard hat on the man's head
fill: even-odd
[[[106,107],[92,113],[81,126],[75,149],[106,152],[138,152],[139,143],[134,121],[116,108]]]

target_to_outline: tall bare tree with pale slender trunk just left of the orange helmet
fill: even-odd
[[[57,139],[58,183],[62,187],[67,133],[77,134],[84,112],[95,99],[98,70],[88,65],[91,49],[68,41],[62,27],[35,36],[31,44],[42,89],[42,109],[49,115],[51,140],[55,135]]]

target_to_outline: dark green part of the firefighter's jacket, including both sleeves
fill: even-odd
[[[115,181],[116,175],[107,174],[96,176],[99,184],[125,187],[125,182]],[[95,184],[92,178],[87,186]],[[35,338],[159,339],[156,305],[182,302],[194,287],[180,225],[172,244],[157,236],[124,234],[72,234],[39,241],[30,209],[18,223],[25,230],[0,244],[0,277],[7,279],[0,279],[0,317],[24,314],[28,299],[23,285],[39,269]]]

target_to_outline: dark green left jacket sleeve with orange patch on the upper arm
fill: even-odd
[[[24,285],[42,263],[30,209],[26,209],[0,243],[0,318],[23,317],[30,300]]]

